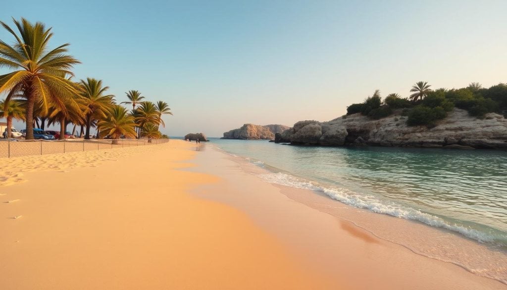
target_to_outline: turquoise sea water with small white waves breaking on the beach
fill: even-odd
[[[505,151],[211,142],[268,169],[269,182],[507,247]]]

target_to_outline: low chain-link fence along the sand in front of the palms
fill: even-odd
[[[169,139],[99,139],[99,140],[1,140],[0,139],[0,158],[18,157],[26,155],[43,155],[77,151],[91,151],[123,148],[131,146],[143,146],[163,144],[169,142]]]

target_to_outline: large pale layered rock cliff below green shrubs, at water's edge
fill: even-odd
[[[372,120],[361,114],[329,122],[299,121],[282,132],[277,143],[339,146],[413,146],[456,149],[507,149],[507,119],[489,113],[484,119],[454,109],[436,126],[408,126],[401,111]]]

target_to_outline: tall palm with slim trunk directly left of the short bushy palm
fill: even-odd
[[[81,85],[83,87],[82,102],[85,107],[83,113],[86,119],[85,139],[89,140],[92,122],[106,117],[108,109],[113,106],[114,95],[104,94],[109,87],[103,87],[102,80],[87,78],[86,81],[81,80]]]

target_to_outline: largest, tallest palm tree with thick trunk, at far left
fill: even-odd
[[[14,36],[14,45],[8,45],[0,40],[0,68],[12,69],[11,73],[0,76],[0,93],[8,92],[5,99],[4,111],[13,95],[23,94],[26,98],[26,139],[33,139],[33,106],[36,101],[42,105],[42,115],[46,115],[50,104],[66,110],[65,103],[76,95],[78,88],[67,80],[65,75],[72,75],[70,71],[79,60],[67,52],[68,43],[50,50],[48,43],[53,33],[46,29],[42,22],[31,23],[21,18],[13,18],[19,36],[6,23],[2,26]]]

